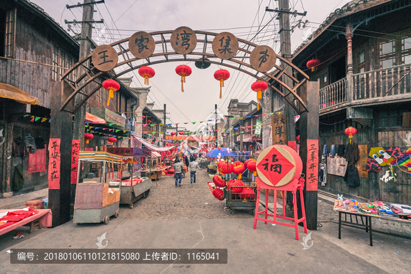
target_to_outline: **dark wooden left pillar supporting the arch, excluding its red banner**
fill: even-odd
[[[62,90],[51,92],[50,138],[60,139],[60,188],[49,189],[49,208],[53,213],[53,227],[70,221],[71,200],[71,145],[73,140],[73,113],[60,108],[73,89],[62,82]],[[73,104],[70,105],[73,107]]]

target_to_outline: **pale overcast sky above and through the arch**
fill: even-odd
[[[82,8],[66,9],[66,5],[75,5],[82,0],[32,0],[45,10],[56,22],[67,29],[64,19],[68,21],[82,20]],[[291,49],[294,51],[303,37],[314,32],[319,23],[349,0],[290,0],[291,10],[307,12],[306,16],[291,17],[292,25],[298,20],[310,23],[301,29],[295,27],[291,34]],[[95,21],[103,18],[105,23],[95,24],[93,40],[99,44],[110,44],[132,36],[135,32],[155,32],[174,30],[187,26],[193,30],[210,32],[231,32],[238,38],[251,40],[258,45],[273,47],[279,54],[278,20],[273,18],[274,12],[266,12],[265,7],[277,8],[274,0],[105,0],[97,5],[94,14]],[[80,32],[80,26],[71,27],[74,32]],[[73,31],[69,34],[74,35]],[[186,64],[191,67],[192,74],[186,77],[185,92],[181,91],[180,77],[175,73],[175,67]],[[214,72],[219,66],[212,64],[210,68],[200,70],[193,62],[166,62],[151,66],[155,76],[150,79],[151,92],[148,102],[155,102],[155,109],[162,109],[166,103],[167,123],[187,123],[204,121],[212,112],[214,105],[223,114],[227,114],[230,99],[239,99],[248,103],[256,101],[256,92],[250,86],[255,81],[253,77],[234,69],[227,69],[230,78],[225,82],[223,98],[219,99],[219,82],[214,79]],[[145,86],[138,71],[129,73],[133,76],[132,87]],[[187,129],[195,129],[199,123],[187,124]]]

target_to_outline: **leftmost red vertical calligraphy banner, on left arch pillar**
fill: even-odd
[[[49,141],[49,189],[60,189],[60,139]]]

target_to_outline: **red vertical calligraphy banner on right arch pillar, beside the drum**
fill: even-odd
[[[306,190],[319,190],[319,140],[307,140]]]

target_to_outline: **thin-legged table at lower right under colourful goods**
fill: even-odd
[[[370,245],[373,246],[373,225],[372,225],[372,217],[377,217],[378,219],[390,220],[390,221],[398,221],[401,223],[411,223],[411,221],[401,220],[401,219],[394,219],[385,216],[379,216],[374,214],[364,214],[360,212],[349,212],[345,210],[338,210],[336,209],[338,200],[334,202],[334,210],[338,211],[338,239],[341,239],[341,225],[347,225],[349,227],[356,227],[365,229],[365,232],[369,233],[370,236]],[[344,220],[341,218],[342,214],[345,215]],[[347,215],[349,215],[349,219],[347,219]],[[355,219],[353,219],[353,216]],[[360,217],[360,219],[358,219]],[[363,219],[364,218],[364,219]],[[360,220],[360,222],[359,222]],[[365,223],[364,223],[365,221]]]

